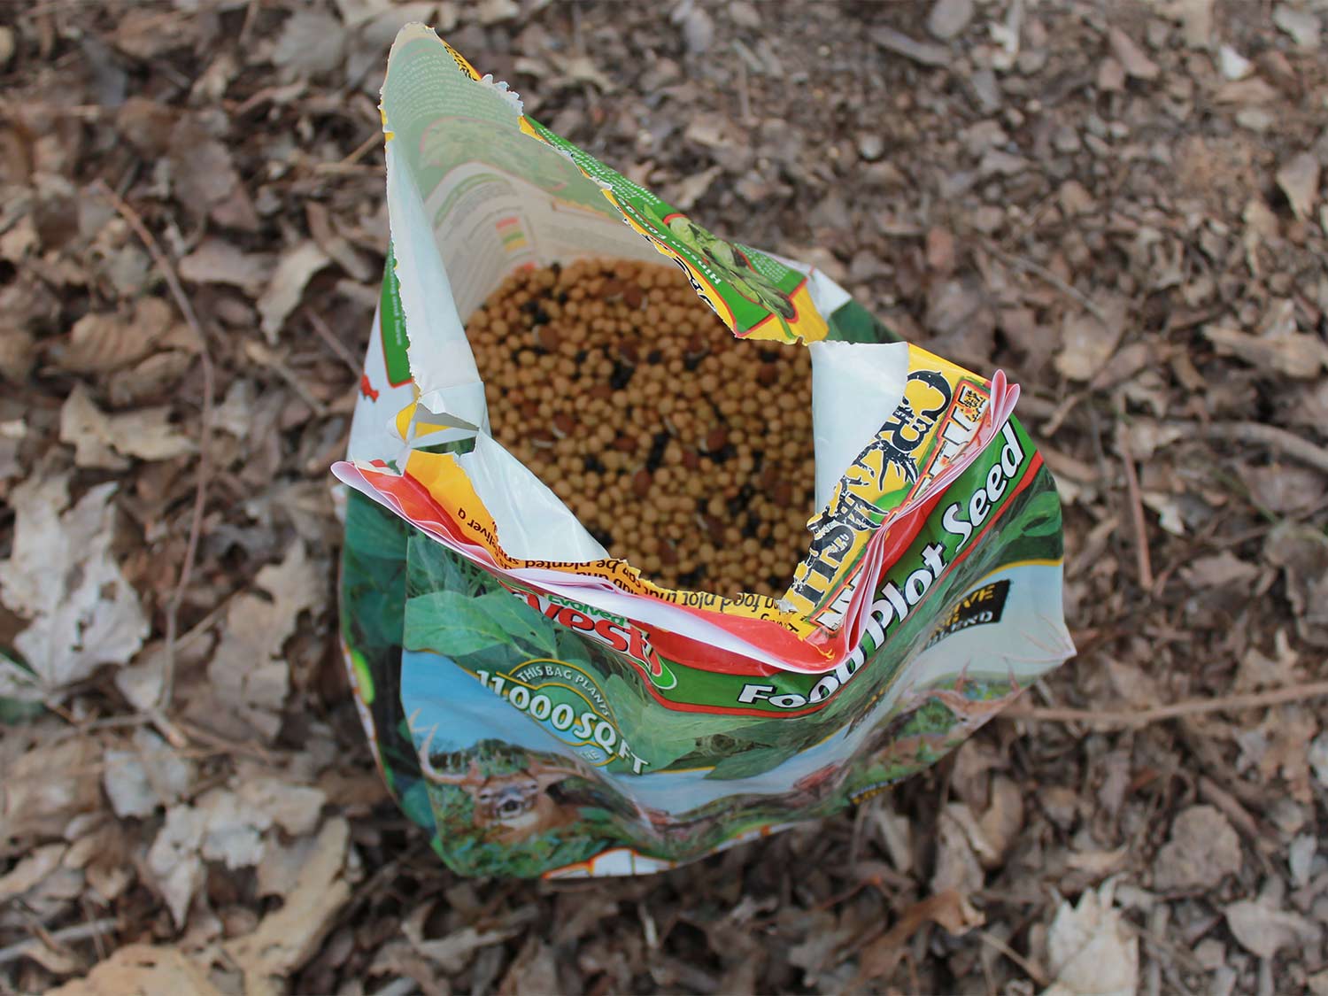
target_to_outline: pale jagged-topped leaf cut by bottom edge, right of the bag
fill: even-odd
[[[1056,981],[1042,996],[1133,996],[1139,942],[1113,904],[1113,886],[1085,890],[1078,906],[1061,903],[1046,936]]]

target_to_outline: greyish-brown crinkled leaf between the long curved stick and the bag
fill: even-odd
[[[244,592],[226,610],[222,639],[207,667],[212,700],[202,716],[236,736],[256,730],[271,740],[282,726],[282,704],[290,689],[290,667],[282,655],[300,612],[323,598],[323,576],[296,540],[279,564],[258,572],[254,588],[271,598]],[[212,703],[224,710],[214,712]]]

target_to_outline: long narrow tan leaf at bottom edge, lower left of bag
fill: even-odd
[[[345,861],[351,826],[336,818],[324,823],[313,854],[280,910],[268,914],[252,934],[226,943],[226,952],[244,973],[247,996],[282,992],[279,984],[317,951],[332,919],[351,898]]]

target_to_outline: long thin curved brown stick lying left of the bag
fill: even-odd
[[[207,348],[207,336],[198,321],[198,315],[194,313],[194,305],[190,304],[189,296],[185,293],[185,288],[175,275],[175,267],[171,266],[170,259],[162,252],[161,246],[157,244],[157,239],[147,230],[147,226],[143,224],[143,219],[138,211],[130,207],[129,202],[108,187],[101,179],[97,179],[94,186],[112,203],[116,211],[120,212],[120,216],[127,222],[129,227],[134,230],[134,234],[153,258],[153,263],[161,271],[162,279],[170,288],[171,297],[175,299],[175,305],[185,316],[186,324],[198,340],[198,357],[203,369],[203,409],[198,437],[198,477],[194,483],[194,509],[190,514],[185,562],[181,564],[179,578],[175,580],[175,590],[171,592],[170,602],[166,603],[166,667],[162,676],[161,700],[157,704],[157,710],[165,714],[170,709],[171,697],[175,691],[175,633],[179,628],[179,607],[185,602],[185,590],[189,587],[190,578],[194,574],[194,562],[198,559],[198,540],[203,531],[203,510],[207,506],[207,481],[211,475],[211,448],[208,444],[212,436],[212,404],[215,398],[216,372],[212,368],[212,356]]]

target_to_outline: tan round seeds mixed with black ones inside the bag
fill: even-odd
[[[676,270],[509,276],[466,333],[494,437],[667,588],[781,595],[813,514],[811,361],[742,341]]]

